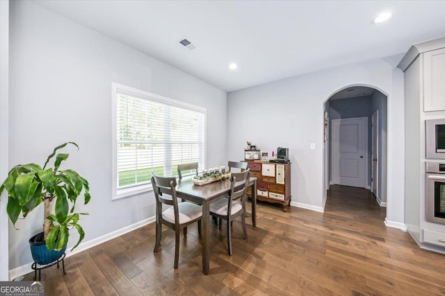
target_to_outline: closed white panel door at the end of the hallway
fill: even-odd
[[[334,184],[366,187],[367,148],[367,117],[332,120],[332,180]]]

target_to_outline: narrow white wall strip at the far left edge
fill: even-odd
[[[0,182],[8,175],[8,79],[9,1],[0,1]],[[0,202],[0,281],[8,281],[8,214],[6,200]]]

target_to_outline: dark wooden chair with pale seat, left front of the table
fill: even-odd
[[[187,226],[197,221],[197,231],[201,236],[202,208],[191,202],[177,202],[175,177],[159,177],[152,174],[152,186],[156,198],[156,244],[153,252],[156,254],[161,246],[162,225],[175,230],[175,268],[177,268],[179,233],[181,229],[184,229],[184,236],[186,236],[185,229],[187,229]],[[162,204],[168,204],[172,207],[162,211]]]

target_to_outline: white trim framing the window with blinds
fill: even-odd
[[[140,184],[136,186],[132,186],[129,188],[118,189],[118,93],[119,94],[127,94],[129,96],[136,96],[138,98],[146,98],[150,101],[157,101],[160,103],[166,103],[168,105],[173,105],[176,107],[182,107],[188,110],[193,110],[197,112],[204,113],[204,167],[207,164],[207,108],[200,107],[197,105],[192,105],[190,103],[185,103],[182,101],[177,101],[172,98],[168,98],[166,96],[160,96],[158,94],[153,94],[151,92],[145,92],[141,89],[136,89],[133,87],[128,87],[127,85],[120,85],[116,82],[111,83],[112,86],[112,200],[118,200],[120,198],[127,198],[132,195],[138,195],[140,193],[145,193],[152,191],[152,184]]]

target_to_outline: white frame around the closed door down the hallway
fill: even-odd
[[[364,121],[364,146],[366,147],[366,149],[363,152],[363,157],[365,159],[364,162],[364,188],[366,189],[370,189],[370,186],[368,184],[369,181],[369,166],[368,166],[368,162],[369,162],[369,153],[368,153],[368,117],[353,117],[353,118],[347,118],[347,119],[332,119],[332,134],[331,139],[332,139],[332,153],[331,153],[331,177],[332,177],[332,182],[334,184],[339,184],[339,180],[340,177],[337,174],[339,172],[339,163],[337,162],[337,159],[340,158],[340,145],[339,145],[339,139],[337,139],[337,134],[334,132],[334,126],[336,126],[334,123],[339,122],[341,123],[341,121],[346,121],[348,119],[359,119],[359,120],[363,120]]]

